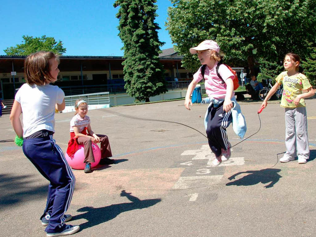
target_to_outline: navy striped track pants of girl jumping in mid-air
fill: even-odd
[[[222,148],[227,150],[229,146],[226,128],[233,121],[232,110],[226,113],[223,103],[217,107],[212,104],[208,113],[206,134],[210,149],[218,157],[222,154]]]

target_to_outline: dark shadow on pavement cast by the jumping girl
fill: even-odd
[[[263,184],[270,183],[268,185],[265,185],[264,187],[271,188],[282,177],[281,175],[278,174],[278,172],[280,171],[281,171],[280,169],[269,168],[269,169],[249,170],[245,172],[235,173],[234,175],[230,176],[228,179],[229,180],[235,179],[236,176],[242,173],[249,173],[249,174],[238,180],[227,183],[226,186],[230,186],[230,185],[248,186],[248,185],[255,185],[261,182]]]

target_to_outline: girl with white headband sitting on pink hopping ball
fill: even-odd
[[[75,102],[76,113],[70,121],[70,140],[68,142],[67,154],[72,156],[78,150],[78,145],[84,146],[84,173],[91,173],[91,163],[94,162],[92,143],[101,143],[101,165],[114,164],[109,138],[106,135],[95,134],[91,130],[90,118],[87,116],[88,104],[86,101],[78,99]],[[88,133],[87,133],[88,131]]]

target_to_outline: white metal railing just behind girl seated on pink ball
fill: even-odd
[[[110,105],[110,97],[108,92],[90,93],[90,94],[76,94],[65,96],[66,106],[75,106],[77,99],[82,99],[88,105]]]

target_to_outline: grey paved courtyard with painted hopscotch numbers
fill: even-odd
[[[116,164],[92,173],[73,170],[70,224],[74,236],[315,236],[316,99],[307,100],[310,161],[280,163],[285,151],[284,109],[272,101],[261,130],[213,167],[205,134],[207,105],[184,101],[91,110],[92,129],[109,137]],[[250,136],[259,129],[260,102],[241,102]],[[54,138],[65,152],[73,113],[56,114]],[[158,121],[164,120],[164,121]],[[166,122],[169,121],[169,122]],[[0,118],[1,236],[46,236],[39,217],[48,181],[13,140]],[[240,139],[228,128],[232,145]]]

